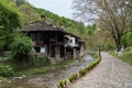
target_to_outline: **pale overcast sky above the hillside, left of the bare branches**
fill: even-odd
[[[72,0],[28,0],[32,6],[73,19]]]

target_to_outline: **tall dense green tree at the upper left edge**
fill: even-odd
[[[20,13],[6,0],[0,0],[0,44],[1,51],[9,47],[13,33],[21,26]]]

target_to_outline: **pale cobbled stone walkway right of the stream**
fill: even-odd
[[[68,88],[132,88],[132,66],[102,53],[100,64]]]

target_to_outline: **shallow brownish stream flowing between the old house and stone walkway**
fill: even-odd
[[[56,84],[61,79],[67,79],[72,74],[77,73],[80,68],[86,67],[91,62],[94,62],[94,58],[90,55],[86,55],[84,58],[76,61],[72,65],[65,66],[61,70],[29,78],[1,81],[0,88],[56,88]]]

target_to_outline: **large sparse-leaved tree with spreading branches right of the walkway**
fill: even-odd
[[[117,45],[117,52],[121,50],[121,37],[129,25],[127,0],[74,0],[73,8],[77,18],[87,22],[95,21],[99,29],[109,31]]]

